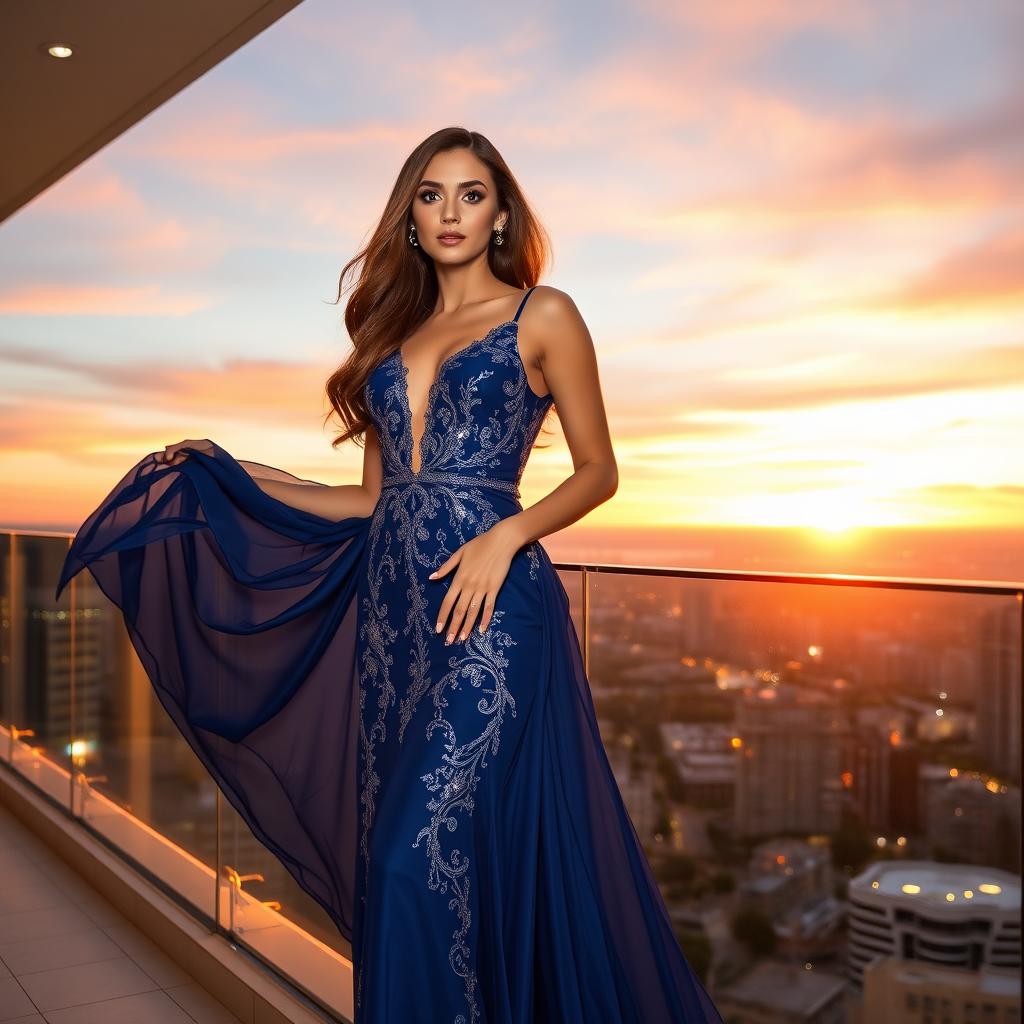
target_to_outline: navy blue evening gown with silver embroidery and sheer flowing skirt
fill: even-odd
[[[718,1022],[543,546],[516,552],[484,633],[434,633],[455,572],[429,574],[522,509],[553,401],[519,357],[528,296],[438,368],[418,460],[399,352],[373,371],[370,516],[287,505],[255,481],[325,484],[216,444],[153,454],[83,523],[57,594],[87,566],[122,609],[176,726],[351,941],[356,1024]]]

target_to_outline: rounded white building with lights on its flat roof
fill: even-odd
[[[974,864],[881,861],[851,880],[847,974],[876,957],[941,967],[1020,969],[1021,886]]]

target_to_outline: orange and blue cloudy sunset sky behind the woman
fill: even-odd
[[[1017,0],[305,0],[0,225],[0,526],[73,529],[184,437],[356,482],[338,273],[449,124],[594,338],[588,523],[1019,523],[1021,52]]]

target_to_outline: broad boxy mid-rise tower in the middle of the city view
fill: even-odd
[[[736,709],[736,833],[835,831],[846,724],[825,694],[795,686],[744,693]]]

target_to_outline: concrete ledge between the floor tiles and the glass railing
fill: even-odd
[[[4,764],[0,805],[243,1024],[350,1024],[328,1015],[255,956],[211,932]]]

